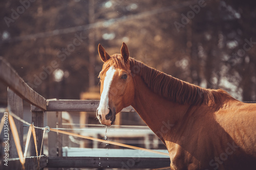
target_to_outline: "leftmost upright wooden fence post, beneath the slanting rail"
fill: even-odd
[[[12,113],[16,114],[20,118],[23,118],[23,100],[19,98],[17,94],[15,94],[10,88],[8,88],[8,109]],[[23,123],[14,118],[14,123],[16,125],[20,147],[23,150]],[[11,128],[9,134],[9,157],[10,158],[18,158],[17,149],[15,147],[15,142],[13,139],[13,135],[11,134]]]

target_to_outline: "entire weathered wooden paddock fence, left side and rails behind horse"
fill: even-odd
[[[47,111],[48,126],[51,128],[61,128],[61,111],[96,111],[99,101],[95,100],[46,100],[40,94],[30,88],[11,65],[2,57],[0,57],[0,81],[8,87],[8,109],[10,112],[23,118],[23,100],[31,104],[32,123],[36,127],[44,127],[44,112]],[[130,106],[124,108],[122,112],[135,112]],[[20,145],[23,150],[23,123],[14,119],[18,130]],[[35,129],[37,150],[40,151],[42,134],[41,129]],[[13,137],[9,133],[9,159],[8,166],[1,161],[1,169],[20,169],[21,163],[18,159],[17,150]],[[133,160],[133,168],[157,168],[169,166],[169,158],[139,158],[132,159],[132,157],[108,157],[102,158],[100,161],[98,157],[62,157],[62,136],[55,132],[48,133],[48,151],[49,155],[44,155],[42,149],[42,156],[40,157],[39,168],[48,167],[49,169],[58,169],[58,167],[99,167],[101,168],[115,167],[126,168],[123,162]],[[37,168],[37,157],[35,151],[34,139],[31,138],[31,157],[26,158],[25,169]],[[130,167],[132,168],[132,167]]]

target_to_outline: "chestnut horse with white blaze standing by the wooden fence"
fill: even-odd
[[[124,42],[120,52],[110,56],[98,45],[102,125],[113,125],[131,105],[165,144],[170,169],[256,168],[256,104],[147,66],[129,56]]]

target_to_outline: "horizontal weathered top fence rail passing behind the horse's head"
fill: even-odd
[[[47,100],[47,111],[95,112],[98,106],[99,100]],[[31,110],[38,111],[38,108],[31,107]],[[135,110],[129,106],[122,112],[135,112]]]

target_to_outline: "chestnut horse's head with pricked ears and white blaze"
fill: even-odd
[[[110,56],[100,44],[98,52],[104,64],[99,74],[100,103],[96,116],[102,125],[111,126],[115,122],[116,114],[130,106],[134,99],[129,50],[123,42],[121,54]]]

